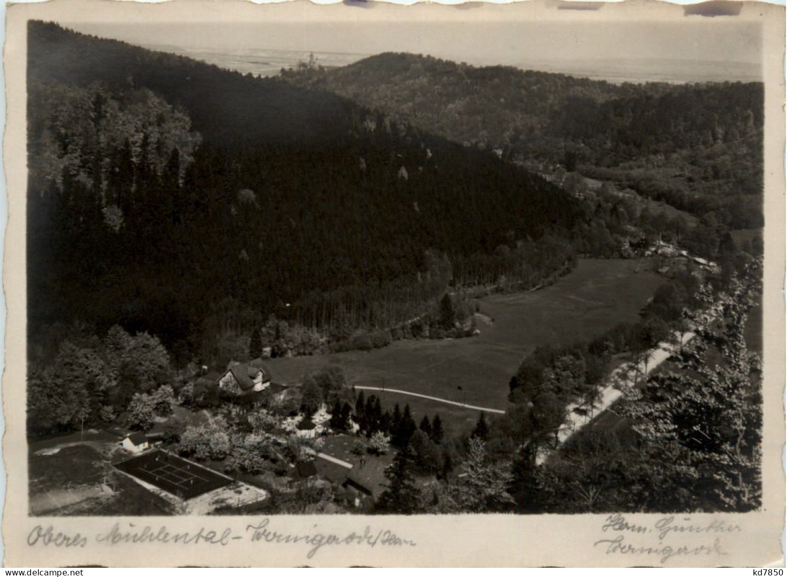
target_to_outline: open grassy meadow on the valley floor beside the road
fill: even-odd
[[[592,337],[619,322],[637,320],[640,309],[664,282],[648,269],[647,261],[583,260],[551,287],[480,299],[481,313],[492,322],[480,319],[477,337],[405,340],[370,352],[278,358],[269,361],[269,368],[275,381],[296,384],[303,375],[337,364],[351,384],[458,402],[464,392],[469,405],[506,409],[509,379],[536,346]],[[417,422],[425,412],[430,416],[438,412],[448,430],[470,426],[478,417],[473,409],[403,394],[382,393],[381,399],[384,408],[409,403]]]

